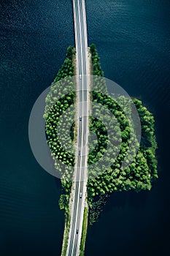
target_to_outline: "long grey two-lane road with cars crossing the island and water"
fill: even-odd
[[[74,168],[74,189],[72,190],[71,220],[66,255],[80,253],[82,222],[85,208],[86,185],[88,181],[88,115],[89,75],[88,35],[85,14],[85,0],[73,0],[74,33],[77,59],[77,145]],[[82,194],[80,196],[80,194]]]

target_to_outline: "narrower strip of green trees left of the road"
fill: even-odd
[[[50,87],[45,99],[45,132],[47,143],[55,161],[55,169],[61,173],[63,194],[59,206],[69,214],[69,195],[72,187],[72,170],[74,167],[74,146],[68,132],[74,120],[74,58],[75,50],[69,46],[66,60]],[[68,129],[68,132],[66,130]],[[61,144],[62,138],[62,144]],[[66,146],[66,149],[63,147]],[[70,153],[69,153],[70,152]],[[59,161],[58,161],[59,160]]]

